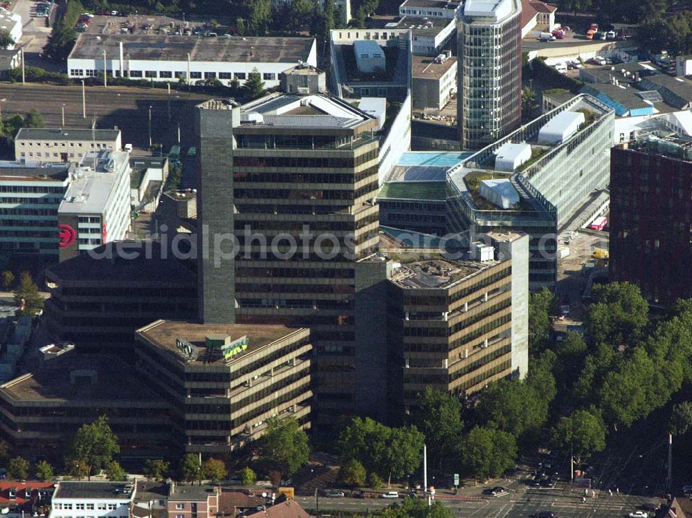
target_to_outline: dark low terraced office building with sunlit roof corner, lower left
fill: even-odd
[[[0,385],[0,434],[30,460],[62,461],[80,426],[103,414],[121,461],[170,452],[169,404],[115,355],[71,351]]]

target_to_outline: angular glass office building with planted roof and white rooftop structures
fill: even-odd
[[[585,122],[572,124],[577,116]],[[613,121],[612,109],[582,94],[465,158],[446,172],[448,232],[529,234],[531,288],[552,286],[557,234],[581,227],[590,207],[608,199],[601,189],[609,181]],[[542,130],[552,143],[539,142]],[[531,145],[531,159],[512,173],[498,171],[498,151],[510,142]],[[509,179],[519,203],[505,210],[481,196],[486,178]]]

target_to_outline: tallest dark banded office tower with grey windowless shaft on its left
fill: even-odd
[[[366,259],[378,242],[377,120],[330,95],[273,94],[205,102],[197,123],[201,321],[308,326],[320,417],[370,413],[376,401],[358,391],[386,378],[385,318],[372,320],[385,311],[365,311],[387,268]]]

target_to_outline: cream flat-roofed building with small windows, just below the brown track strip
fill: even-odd
[[[15,136],[15,160],[81,162],[89,151],[120,151],[119,129],[21,128]]]

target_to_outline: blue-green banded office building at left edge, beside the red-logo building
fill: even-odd
[[[0,162],[0,253],[57,260],[57,210],[75,165]]]

